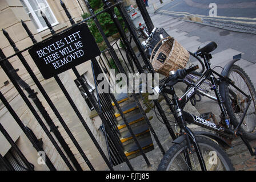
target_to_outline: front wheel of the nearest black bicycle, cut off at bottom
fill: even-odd
[[[234,167],[226,152],[213,140],[196,137],[207,171],[233,171]],[[159,171],[201,171],[196,152],[189,154],[186,140],[174,144],[163,156]]]

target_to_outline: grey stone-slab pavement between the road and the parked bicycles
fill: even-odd
[[[165,28],[170,36],[177,39],[183,47],[191,52],[195,51],[203,43],[209,41],[216,42],[218,48],[212,52],[212,68],[215,65],[221,65],[223,67],[234,55],[242,53],[242,60],[238,61],[237,65],[246,71],[254,87],[256,86],[255,35],[246,32],[226,30],[218,26],[195,23],[189,20],[179,19],[170,14],[159,13],[158,10],[170,2],[172,1],[163,0],[161,4],[158,0],[149,0],[149,8],[147,8],[147,11],[155,27]],[[219,72],[220,70],[217,71]],[[199,113],[206,113],[206,111],[219,112],[218,105],[206,98],[203,98],[195,108]],[[250,143],[252,146],[256,147],[256,141],[251,141]],[[232,147],[227,150],[227,154],[230,156],[235,170],[256,170],[256,159],[249,154],[249,151],[245,144],[242,143],[241,139],[237,138],[233,140]]]

